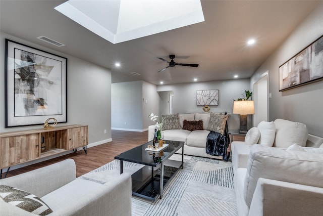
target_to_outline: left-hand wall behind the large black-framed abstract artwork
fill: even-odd
[[[5,38],[20,42],[68,59],[67,109],[68,122],[60,125],[86,124],[89,144],[111,141],[111,71],[73,56],[0,32],[0,133],[42,128],[42,125],[5,128]],[[107,133],[104,134],[104,129]]]

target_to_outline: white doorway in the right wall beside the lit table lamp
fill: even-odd
[[[268,72],[253,84],[254,115],[253,126],[261,121],[268,121]]]

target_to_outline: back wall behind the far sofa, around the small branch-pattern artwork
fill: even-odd
[[[197,90],[219,90],[219,106],[210,106],[209,112],[233,111],[233,100],[241,98],[245,90],[250,90],[249,79],[232,79],[221,81],[194,82],[173,85],[158,85],[157,91],[174,92],[174,113],[184,114],[188,112],[204,112],[203,106],[196,105]],[[239,129],[239,115],[230,115],[228,124],[230,129]],[[248,118],[248,127],[251,127]]]

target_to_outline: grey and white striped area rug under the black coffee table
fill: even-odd
[[[173,160],[181,160],[175,154]],[[124,162],[124,172],[133,174],[142,165]],[[114,160],[79,178],[104,183],[120,174]],[[163,199],[149,201],[132,196],[132,215],[238,215],[231,162],[184,156],[180,169],[164,189]]]

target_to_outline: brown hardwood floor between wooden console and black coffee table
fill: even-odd
[[[61,157],[14,169],[9,171],[7,178],[50,165],[67,158],[72,158],[75,161],[76,177],[79,177],[97,167],[113,161],[116,155],[147,142],[147,139],[148,131],[128,132],[112,130],[112,142],[88,148],[87,154],[85,154],[83,150],[79,150],[76,153],[70,153]]]

